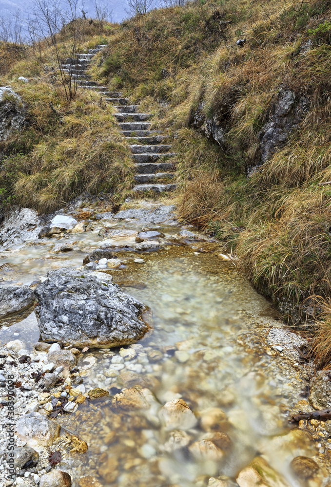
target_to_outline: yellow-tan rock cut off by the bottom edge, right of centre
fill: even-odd
[[[290,487],[282,475],[262,458],[255,457],[236,478],[239,487]]]

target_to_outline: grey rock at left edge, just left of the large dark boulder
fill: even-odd
[[[31,306],[36,298],[29,286],[14,284],[0,286],[0,317],[17,313]]]

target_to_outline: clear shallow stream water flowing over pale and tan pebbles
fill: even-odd
[[[114,223],[119,226],[123,224]],[[135,223],[125,228],[135,228]],[[163,230],[171,237],[179,228]],[[117,244],[134,241],[134,235],[125,238]],[[31,282],[51,268],[81,265],[82,256],[101,239],[82,233],[65,242],[70,240],[76,245],[70,253],[51,254],[50,241],[12,249],[2,263],[10,264],[13,282]],[[222,475],[231,485],[258,454],[290,485],[299,485],[290,462],[298,454],[312,456],[315,447],[297,442],[285,448],[279,438],[290,431],[285,412],[297,402],[302,379],[281,357],[266,354],[262,337],[277,326],[273,307],[219,253],[210,243],[168,245],[144,253],[145,262],[136,264],[136,253],[117,252],[126,262],[112,271],[113,280],[150,307],[153,331],[138,346],[124,347],[127,356],[106,349],[88,350],[80,358],[86,390],[100,387],[110,396],[85,401],[76,413],[58,416],[89,447],[63,467],[75,485],[81,475],[95,475],[102,485],[118,487],[202,487],[210,477]],[[0,330],[1,343],[14,333],[28,346],[36,341],[33,313],[10,325],[7,321]],[[132,386],[152,392],[150,408],[112,404],[116,393]],[[162,423],[160,408],[179,398],[194,412],[196,423],[177,425],[174,432]],[[219,451],[192,446],[215,433],[227,435],[220,435]]]

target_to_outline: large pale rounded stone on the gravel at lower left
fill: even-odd
[[[60,429],[56,421],[51,421],[39,412],[25,414],[16,423],[16,434],[21,446],[27,445],[36,449],[52,445],[58,438]]]

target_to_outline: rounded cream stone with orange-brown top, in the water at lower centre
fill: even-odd
[[[159,418],[167,430],[189,430],[197,419],[183,399],[167,402],[159,411]]]

